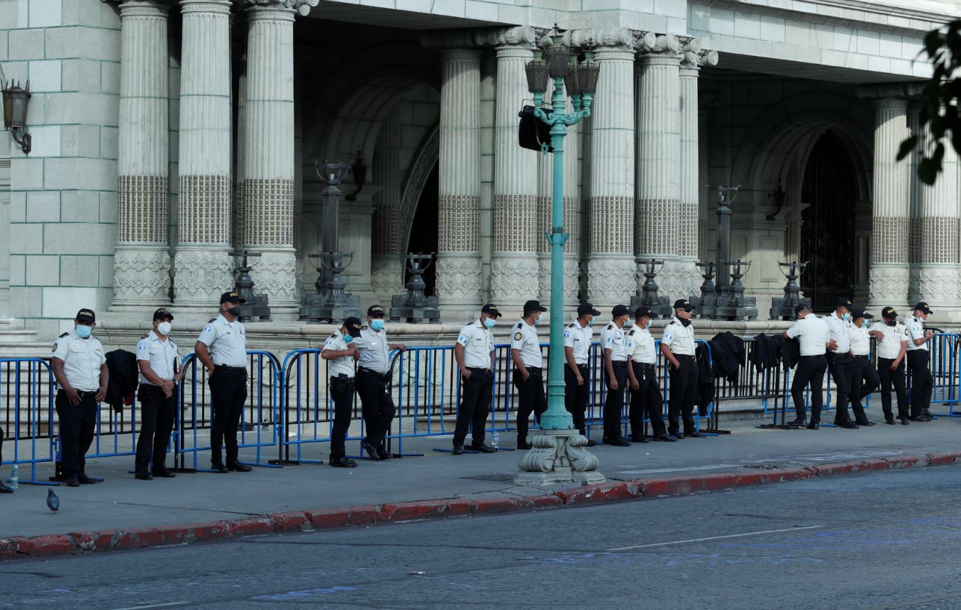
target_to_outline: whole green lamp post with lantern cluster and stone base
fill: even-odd
[[[518,483],[547,484],[560,481],[603,481],[596,472],[597,457],[585,451],[587,439],[574,429],[571,414],[564,407],[564,244],[570,233],[564,232],[564,136],[567,127],[591,115],[591,102],[597,88],[601,68],[594,61],[593,41],[588,41],[583,61],[579,54],[566,47],[563,33],[556,24],[551,43],[546,49],[535,49],[534,59],[526,66],[528,89],[534,98],[534,116],[551,126],[551,148],[554,154],[554,193],[551,205],[551,351],[547,389],[547,411],[541,415],[541,427],[531,434],[530,451],[518,461]],[[551,96],[552,112],[541,108],[550,81],[554,82]],[[566,97],[571,97],[573,112],[565,112]],[[548,154],[545,143],[542,153]]]

